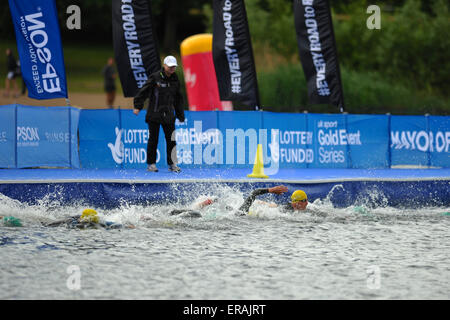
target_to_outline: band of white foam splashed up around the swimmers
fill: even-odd
[[[249,219],[262,220],[290,220],[290,221],[366,221],[366,220],[404,220],[417,218],[442,217],[450,208],[394,208],[388,207],[387,199],[377,188],[371,190],[366,197],[357,199],[355,205],[346,208],[333,206],[331,198],[335,192],[343,189],[342,185],[332,188],[325,199],[316,199],[308,204],[307,210],[298,212],[285,212],[276,202],[276,196],[269,200],[257,199],[249,210]],[[235,213],[245,200],[246,194],[236,188],[217,184],[211,185],[205,192],[192,199],[188,191],[173,190],[179,193],[178,200],[164,205],[135,205],[122,201],[121,205],[113,209],[86,206],[83,203],[62,205],[56,194],[47,195],[36,204],[24,204],[0,193],[0,215],[20,218],[25,225],[49,223],[69,216],[80,215],[87,207],[95,209],[101,220],[121,224],[132,224],[137,227],[152,227],[158,225],[192,226],[205,221],[241,220]],[[217,199],[213,204],[198,209],[198,204],[206,199]],[[174,209],[190,209],[201,213],[200,218],[186,219],[186,216],[171,216]],[[212,225],[210,224],[212,227]]]

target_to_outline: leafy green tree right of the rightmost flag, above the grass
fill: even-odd
[[[348,19],[334,19],[341,64],[448,95],[450,40],[442,33],[450,28],[448,4],[434,1],[427,13],[421,1],[407,0],[392,14],[382,12],[380,30],[369,30],[363,2],[348,7],[352,12]]]

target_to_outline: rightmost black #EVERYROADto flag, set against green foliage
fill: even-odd
[[[311,104],[344,111],[344,94],[328,0],[294,0],[295,30]]]

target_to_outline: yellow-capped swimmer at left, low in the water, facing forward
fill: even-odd
[[[135,226],[132,224],[124,226],[120,223],[111,221],[101,222],[100,218],[98,217],[97,211],[95,211],[94,209],[84,209],[82,214],[79,216],[73,216],[70,218],[45,224],[45,226],[47,227],[58,227],[61,225],[66,225],[68,228],[78,229],[98,229],[100,227],[105,229],[121,229],[123,227],[130,229],[135,228]]]

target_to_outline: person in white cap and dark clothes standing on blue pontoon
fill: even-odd
[[[175,73],[177,59],[174,56],[164,58],[160,71],[152,73],[134,97],[133,113],[138,115],[144,107],[144,101],[150,100],[145,116],[148,124],[147,170],[158,172],[156,167],[156,148],[158,147],[159,127],[162,126],[166,138],[167,164],[169,171],[180,172],[177,166],[175,136],[175,118],[184,122],[183,96],[180,81]]]

